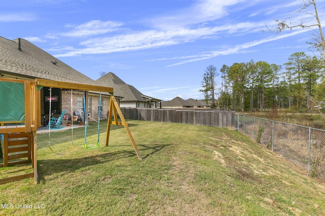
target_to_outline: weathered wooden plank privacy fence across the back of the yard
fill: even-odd
[[[157,109],[121,107],[127,119],[234,127],[235,112],[224,109]]]

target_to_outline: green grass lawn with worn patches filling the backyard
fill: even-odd
[[[105,146],[106,122],[99,148],[86,150],[76,128],[63,156],[38,135],[40,183],[0,185],[0,215],[325,215],[325,183],[237,131],[128,122],[143,160],[122,126],[112,126]],[[95,145],[95,124],[88,134]],[[70,139],[51,133],[53,150],[67,150]]]

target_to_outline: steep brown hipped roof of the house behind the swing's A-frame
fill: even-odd
[[[96,80],[96,82],[106,87],[113,87],[114,94],[124,97],[121,101],[147,102],[147,100],[142,97],[143,94],[141,92],[139,92],[132,85],[126,84],[122,79],[120,79],[112,72],[109,72],[104,76],[100,77]]]

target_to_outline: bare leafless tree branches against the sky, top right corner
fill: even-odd
[[[307,9],[313,7],[312,12],[308,11]],[[316,22],[309,22],[309,21],[305,21],[305,20],[301,20],[300,23],[293,23],[291,22],[291,18],[299,13],[304,13],[304,14],[308,14],[309,16],[313,17]],[[317,7],[316,7],[316,0],[302,0],[302,5],[300,6],[300,8],[293,14],[292,17],[288,17],[287,19],[284,20],[275,20],[275,22],[277,23],[275,27],[273,28],[268,28],[269,31],[271,32],[281,32],[284,30],[293,30],[294,28],[308,28],[313,32],[313,35],[315,36],[315,38],[313,38],[313,42],[308,42],[308,44],[310,44],[313,48],[315,48],[316,50],[318,50],[321,54],[322,60],[325,63],[325,39],[324,39],[324,35],[321,29],[321,24],[320,24],[320,20],[319,20],[319,16],[318,16],[318,12],[317,12]],[[315,28],[316,27],[316,28]],[[318,28],[318,31],[317,31]]]

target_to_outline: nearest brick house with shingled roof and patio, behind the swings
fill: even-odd
[[[0,37],[0,76],[3,78],[34,80],[35,78],[50,79],[55,81],[73,82],[81,84],[99,85],[91,78],[85,76],[72,67],[36,47],[25,39],[9,40]],[[41,90],[41,114],[49,116],[49,88]],[[62,110],[71,113],[70,90],[51,90],[51,110],[56,110],[57,115]],[[87,100],[87,99],[86,99]],[[83,93],[73,91],[73,111],[83,113]],[[89,92],[88,115],[96,119],[99,109],[99,94]],[[109,94],[102,96],[101,110],[107,113],[109,109]],[[0,119],[1,121],[1,119]]]

